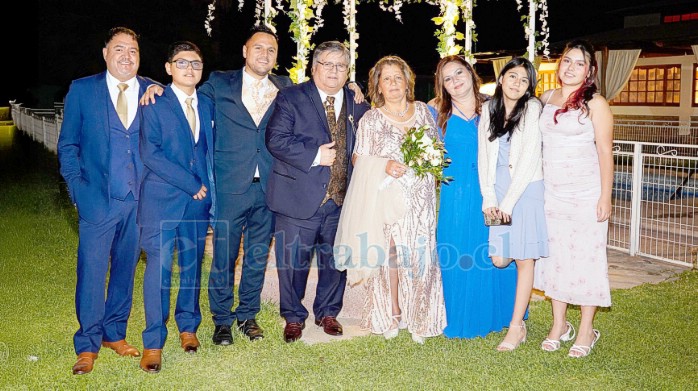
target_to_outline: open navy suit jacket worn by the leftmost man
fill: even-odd
[[[58,136],[60,172],[81,218],[90,223],[102,221],[109,212],[109,97],[107,72],[74,80],[63,108],[63,124]],[[154,82],[137,76],[139,98]],[[139,108],[140,111],[140,108]],[[138,115],[138,114],[136,114]],[[143,164],[138,151],[136,179],[140,186]]]

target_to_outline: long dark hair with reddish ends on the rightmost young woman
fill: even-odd
[[[581,50],[582,54],[584,54],[585,60],[589,61],[589,74],[587,75],[586,79],[584,79],[582,86],[570,94],[567,101],[564,105],[562,105],[561,108],[555,110],[555,115],[553,115],[553,121],[555,121],[555,123],[557,123],[558,115],[566,113],[569,110],[582,109],[582,114],[588,113],[589,101],[594,97],[594,94],[598,90],[598,87],[596,87],[596,72],[598,71],[599,67],[596,65],[594,47],[589,42],[582,39],[570,41],[567,43],[567,45],[565,45],[565,50],[562,52],[560,61],[562,61],[565,54],[572,49]],[[557,65],[557,81],[558,83],[562,84],[562,80],[560,79],[560,63]]]

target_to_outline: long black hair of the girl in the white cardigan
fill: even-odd
[[[504,107],[504,91],[502,91],[502,78],[504,75],[513,68],[523,67],[526,70],[528,77],[528,87],[523,96],[519,98],[514,106],[514,110],[509,114],[507,118],[507,110]],[[490,100],[490,141],[494,141],[505,134],[509,135],[508,140],[511,140],[511,135],[514,133],[514,129],[519,126],[521,118],[524,117],[526,113],[526,106],[530,99],[536,98],[536,69],[533,67],[530,61],[523,57],[516,57],[506,63],[501,72],[499,72],[499,77],[497,78],[497,88],[494,90],[494,95]]]

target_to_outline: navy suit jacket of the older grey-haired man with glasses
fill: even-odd
[[[344,105],[348,181],[356,127],[370,106],[355,104],[354,93],[347,87],[344,87]],[[272,211],[297,219],[309,219],[317,212],[330,182],[330,168],[310,166],[320,145],[331,142],[331,138],[325,108],[313,81],[279,92],[266,137],[269,152],[274,156],[267,189],[267,204]]]

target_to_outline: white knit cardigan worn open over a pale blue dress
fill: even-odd
[[[509,152],[511,185],[498,206],[494,184],[497,178],[499,138],[491,142],[488,140],[490,136],[489,104],[490,102],[485,102],[482,105],[482,114],[477,132],[477,169],[480,179],[480,190],[482,191],[482,210],[499,207],[499,210],[511,215],[514,205],[516,205],[528,184],[543,179],[542,141],[540,128],[538,127],[538,117],[540,116],[542,106],[538,99],[531,98],[526,105],[524,117],[511,135]]]

